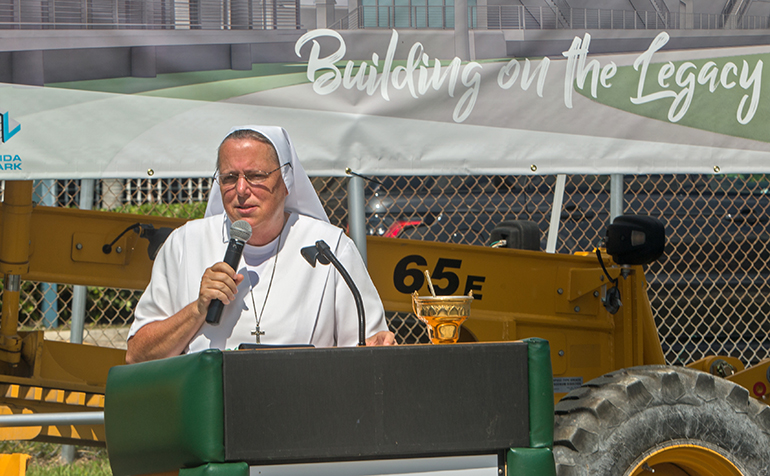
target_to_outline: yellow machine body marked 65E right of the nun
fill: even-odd
[[[463,324],[472,340],[547,339],[557,378],[587,382],[625,367],[665,364],[641,267],[605,261],[610,276],[619,279],[623,303],[613,315],[602,305],[611,284],[594,255],[379,237],[369,237],[367,249],[386,309],[409,312],[409,293],[419,282],[418,293],[429,295],[419,278],[428,270],[436,287],[451,286],[455,294],[473,290],[477,299]]]

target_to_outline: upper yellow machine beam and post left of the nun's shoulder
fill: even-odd
[[[152,261],[148,240],[121,232],[136,223],[176,228],[186,220],[125,213],[34,206],[31,181],[8,181],[0,205],[0,272],[5,276],[0,320],[0,362],[20,363],[21,279],[62,284],[143,289]]]

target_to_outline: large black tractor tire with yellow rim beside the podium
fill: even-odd
[[[671,366],[619,370],[556,405],[557,476],[770,476],[770,407]]]

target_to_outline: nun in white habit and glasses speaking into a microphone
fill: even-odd
[[[280,127],[241,126],[217,154],[206,216],[174,230],[160,249],[134,313],[126,361],[136,363],[242,343],[358,343],[355,300],[332,266],[302,248],[324,240],[361,291],[367,345],[395,345],[382,301],[353,241],[329,218]],[[251,227],[236,269],[222,261],[230,227]],[[220,322],[206,322],[213,300]]]

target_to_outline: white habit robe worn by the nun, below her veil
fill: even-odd
[[[155,259],[152,280],[139,300],[129,338],[145,324],[165,319],[198,298],[203,272],[225,255],[229,230],[230,220],[219,214],[188,222],[169,236]],[[254,343],[255,307],[265,332],[263,344],[356,345],[358,314],[342,276],[332,265],[313,268],[300,255],[301,248],[313,246],[317,240],[329,245],[361,291],[365,336],[387,330],[382,302],[352,240],[329,223],[292,213],[281,233],[277,265],[278,239],[265,246],[246,245],[237,269],[245,278],[235,300],[225,306],[218,325],[203,324],[187,351],[234,349],[241,343]],[[270,286],[273,266],[277,267]]]

